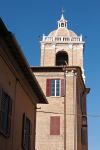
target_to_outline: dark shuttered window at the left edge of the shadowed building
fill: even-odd
[[[0,133],[9,136],[11,128],[12,100],[3,90],[0,90]]]

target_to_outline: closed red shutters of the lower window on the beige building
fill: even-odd
[[[50,117],[50,135],[60,135],[60,116]]]

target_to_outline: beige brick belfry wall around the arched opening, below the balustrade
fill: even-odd
[[[41,66],[55,66],[56,53],[65,51],[69,57],[68,66],[80,66],[83,69],[83,44],[53,44],[41,42]]]

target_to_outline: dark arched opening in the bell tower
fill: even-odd
[[[68,64],[68,54],[66,52],[58,52],[56,54],[56,66]]]

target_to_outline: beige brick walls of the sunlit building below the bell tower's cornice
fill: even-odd
[[[35,76],[46,95],[46,79],[64,79],[64,72],[36,72]],[[64,150],[64,132],[66,130],[66,150],[82,150],[81,145],[81,116],[80,104],[83,83],[77,73],[70,71],[66,74],[66,119],[64,118],[64,97],[47,97],[48,105],[38,105],[36,125],[37,150]],[[79,99],[79,100],[78,100]],[[50,135],[50,116],[60,116],[59,136]],[[66,121],[66,129],[64,129]],[[87,146],[86,146],[87,147]],[[87,149],[85,149],[87,150]]]

